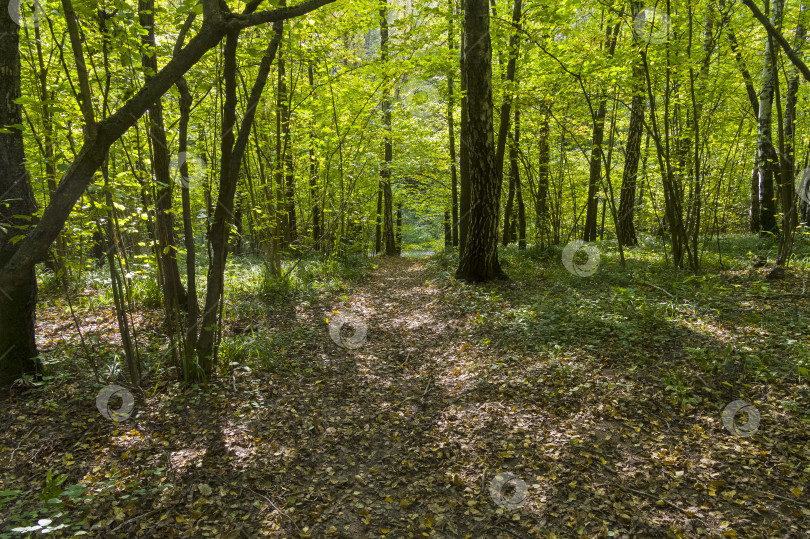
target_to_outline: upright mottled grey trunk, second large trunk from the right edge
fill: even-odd
[[[780,25],[784,0],[774,0],[771,24]],[[765,52],[762,61],[762,91],[759,94],[759,122],[757,129],[757,162],[759,164],[759,221],[761,234],[779,234],[776,222],[776,193],[774,173],[778,170],[779,157],[773,145],[772,109],[775,85],[773,66],[773,39],[765,37]]]

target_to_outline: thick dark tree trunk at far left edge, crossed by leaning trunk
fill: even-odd
[[[0,1],[0,127],[22,123],[20,97],[19,26],[8,12],[9,0]],[[0,132],[0,268],[19,249],[18,236],[26,234],[36,209],[31,179],[25,170],[25,149],[19,129]],[[23,374],[37,372],[39,362],[34,323],[37,279],[34,266],[21,272],[13,285],[0,284],[0,387]]]

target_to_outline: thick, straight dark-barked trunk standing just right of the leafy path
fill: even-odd
[[[493,140],[492,46],[486,0],[467,0],[464,34],[467,130],[462,132],[462,144],[469,147],[473,158],[469,162],[469,231],[456,277],[480,282],[506,278],[498,262],[501,181]]]

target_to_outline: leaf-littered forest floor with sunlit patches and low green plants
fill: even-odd
[[[238,361],[207,387],[152,365],[121,423],[44,302],[54,373],[3,403],[0,537],[807,536],[806,270],[505,257],[511,281],[470,285],[441,254],[373,265],[342,294],[235,309]],[[336,312],[365,337],[330,337]],[[155,349],[160,312],[139,314]],[[115,348],[111,311],[77,315]],[[723,425],[737,399],[748,437]]]

